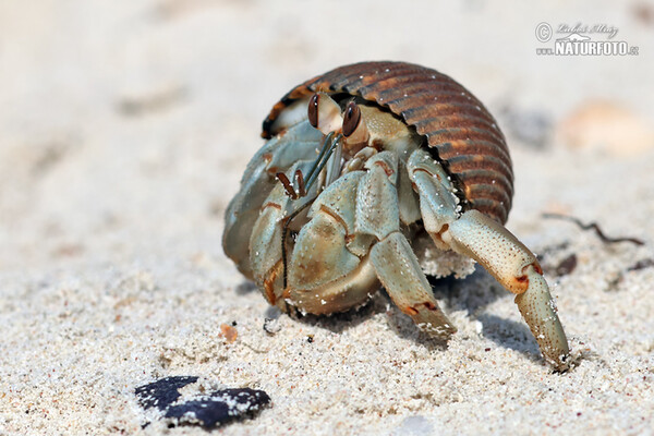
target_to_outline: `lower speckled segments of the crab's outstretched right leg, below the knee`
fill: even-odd
[[[506,289],[536,338],[543,356],[557,370],[569,366],[568,340],[536,257],[505,227],[477,210],[449,225],[443,240],[482,264]]]

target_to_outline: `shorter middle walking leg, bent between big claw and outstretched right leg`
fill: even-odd
[[[397,157],[383,152],[366,161],[356,202],[356,230],[373,234],[378,242],[371,250],[377,277],[393,303],[423,330],[449,337],[453,325],[438,307],[432,287],[420,268],[409,241],[400,232]]]

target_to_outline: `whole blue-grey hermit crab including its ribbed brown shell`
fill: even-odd
[[[229,204],[222,245],[270,304],[312,314],[364,304],[384,286],[423,330],[456,328],[413,246],[479,262],[507,290],[544,358],[569,365],[536,257],[504,223],[513,172],[497,122],[437,71],[363,62],[291,89]]]

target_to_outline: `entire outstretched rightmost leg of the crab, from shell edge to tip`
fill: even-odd
[[[425,229],[436,245],[474,258],[516,293],[516,303],[545,359],[558,370],[567,368],[568,341],[535,256],[511,232],[480,211],[460,214],[447,174],[425,150],[414,152],[407,168],[420,195]]]

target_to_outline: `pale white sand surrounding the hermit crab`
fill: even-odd
[[[228,435],[654,434],[654,267],[628,270],[654,257],[652,25],[610,1],[306,3],[0,3],[0,434],[204,434],[142,429],[134,388],[169,375],[268,392],[272,407]],[[640,56],[535,55],[537,23],[580,20],[608,21]],[[613,143],[577,149],[565,135],[534,149],[507,130],[508,227],[546,267],[579,259],[547,275],[569,373],[544,364],[483,270],[435,290],[459,327],[447,348],[384,294],[264,331],[274,313],[221,251],[225,207],[270,106],[368,59],[452,75],[505,128],[507,106],[558,125],[604,100],[638,119],[644,140],[621,144],[620,122]],[[646,245],[606,245],[543,211]],[[219,326],[232,322],[227,343]]]

